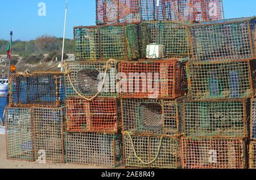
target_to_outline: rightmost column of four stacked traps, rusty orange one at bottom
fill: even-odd
[[[188,26],[192,58],[187,63],[183,168],[247,168],[255,25],[255,18],[242,18]],[[253,167],[253,142],[250,151]]]

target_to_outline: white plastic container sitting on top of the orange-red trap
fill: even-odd
[[[147,45],[146,58],[160,59],[166,57],[166,46],[159,44]]]

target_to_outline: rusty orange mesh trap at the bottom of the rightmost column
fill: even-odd
[[[239,139],[181,138],[185,169],[242,169],[245,151]]]

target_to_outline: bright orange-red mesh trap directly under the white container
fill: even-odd
[[[185,65],[176,59],[120,62],[118,72],[122,98],[174,99],[187,92]]]

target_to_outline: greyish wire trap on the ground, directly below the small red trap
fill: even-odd
[[[122,135],[68,132],[66,163],[117,167],[122,165]]]

